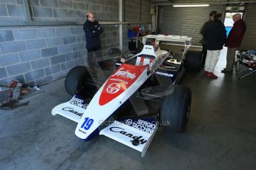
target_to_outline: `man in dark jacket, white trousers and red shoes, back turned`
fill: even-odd
[[[203,38],[206,39],[207,43],[205,74],[214,79],[217,78],[217,76],[213,73],[214,67],[219,59],[220,50],[223,49],[223,45],[226,41],[226,28],[221,19],[221,13],[215,14],[214,21],[209,24],[209,26],[206,28],[206,33],[203,35]]]

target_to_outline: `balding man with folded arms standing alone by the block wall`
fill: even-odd
[[[100,44],[100,34],[103,33],[102,26],[95,20],[93,13],[87,13],[87,20],[83,26],[86,38],[86,48],[88,51],[88,65],[89,67],[95,67],[93,52],[96,53],[99,67],[105,69],[105,63],[102,61],[102,47]]]

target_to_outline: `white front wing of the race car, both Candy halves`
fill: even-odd
[[[52,109],[52,115],[62,115],[65,118],[79,123],[88,103],[80,95],[75,95],[65,103],[61,103]],[[99,124],[99,126],[101,126]],[[115,120],[114,123],[105,127],[99,135],[105,135],[125,144],[139,152],[144,157],[148,146],[157,132],[157,120],[155,119],[136,119],[136,120]]]

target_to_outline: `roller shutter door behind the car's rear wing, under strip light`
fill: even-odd
[[[202,35],[199,31],[203,23],[209,19],[211,10],[223,13],[225,4],[209,7],[160,6],[158,30],[161,34],[187,35],[192,38],[193,45],[200,45]]]

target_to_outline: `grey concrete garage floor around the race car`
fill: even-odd
[[[144,158],[107,137],[85,143],[76,123],[52,116],[70,100],[64,80],[41,86],[27,106],[0,110],[0,169],[255,169],[256,79],[223,75],[225,50],[211,80],[188,73],[183,84],[193,93],[183,134],[159,129]]]

